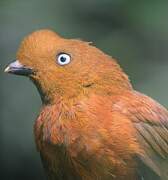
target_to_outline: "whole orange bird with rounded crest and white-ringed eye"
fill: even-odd
[[[168,179],[168,111],[101,50],[40,30],[5,72],[29,77],[41,95],[34,134],[48,179]]]

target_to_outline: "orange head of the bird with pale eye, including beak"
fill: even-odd
[[[131,88],[127,76],[110,56],[88,42],[65,39],[50,30],[25,37],[17,60],[5,72],[28,76],[43,103],[54,103],[58,96],[113,94]]]

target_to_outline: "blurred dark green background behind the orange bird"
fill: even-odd
[[[43,180],[33,123],[41,101],[26,78],[3,73],[22,38],[50,28],[119,59],[134,87],[168,107],[168,1],[0,0],[0,179]]]

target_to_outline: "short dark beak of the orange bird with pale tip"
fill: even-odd
[[[33,73],[31,68],[23,66],[18,60],[10,63],[4,70],[4,72],[22,75],[22,76],[29,76]]]

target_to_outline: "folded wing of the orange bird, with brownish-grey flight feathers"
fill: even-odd
[[[168,180],[168,111],[136,91],[121,96],[114,107],[131,119],[144,150],[136,157],[141,179]]]

